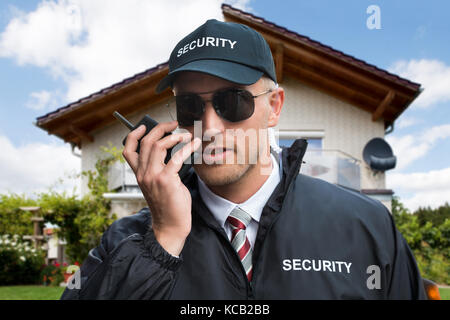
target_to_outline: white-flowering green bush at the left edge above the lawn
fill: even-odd
[[[44,257],[19,235],[0,236],[0,286],[40,283]]]

